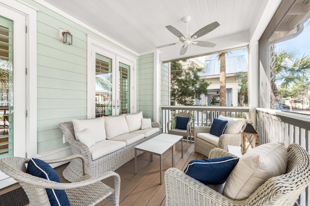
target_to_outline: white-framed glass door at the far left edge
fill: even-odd
[[[25,157],[26,16],[0,9],[0,159]],[[0,172],[0,180],[5,178]]]

